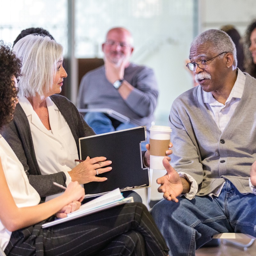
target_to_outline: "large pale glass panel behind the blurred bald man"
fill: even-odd
[[[160,92],[156,124],[167,124],[172,101],[192,87],[186,59],[193,0],[76,0],[75,57],[102,58],[106,32],[116,26],[134,37],[132,61],[154,69]]]

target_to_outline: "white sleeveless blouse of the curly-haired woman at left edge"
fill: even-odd
[[[29,184],[28,177],[12,148],[0,135],[0,157],[4,175],[18,207],[39,204],[40,196]],[[12,232],[8,231],[0,221],[0,246],[4,250],[10,241]]]

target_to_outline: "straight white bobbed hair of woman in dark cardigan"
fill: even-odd
[[[52,89],[62,45],[49,36],[32,34],[21,38],[13,52],[22,61],[19,95],[35,97],[38,94],[43,99],[44,93]]]

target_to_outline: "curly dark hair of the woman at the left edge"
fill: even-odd
[[[17,92],[12,76],[20,76],[21,61],[11,51],[11,45],[0,41],[0,129],[11,122]]]

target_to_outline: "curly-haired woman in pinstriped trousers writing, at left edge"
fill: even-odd
[[[0,128],[12,119],[20,68],[20,60],[0,41]],[[64,218],[78,209],[84,189],[72,181],[62,195],[39,204],[39,194],[1,135],[0,157],[0,246],[7,256],[168,254],[163,236],[141,203],[119,205],[42,228],[55,216]]]

